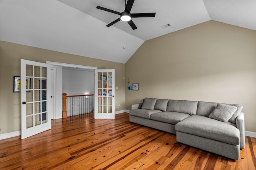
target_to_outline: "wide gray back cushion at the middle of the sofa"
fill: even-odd
[[[169,100],[167,105],[167,111],[195,115],[197,103],[198,103],[197,101],[188,101],[188,100]]]

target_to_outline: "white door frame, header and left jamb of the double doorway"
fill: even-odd
[[[82,69],[90,69],[95,70],[98,69],[97,67],[92,66],[82,66],[82,65],[76,65],[76,64],[67,64],[67,63],[57,63],[52,61],[46,61],[47,64],[51,65],[51,68],[56,68],[56,82],[55,82],[55,114],[54,119],[60,119],[62,118],[62,67],[72,67],[72,68],[82,68]],[[94,81],[94,80],[93,80]],[[58,107],[57,107],[58,106]]]

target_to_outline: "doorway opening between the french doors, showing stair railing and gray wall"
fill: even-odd
[[[63,117],[92,113],[94,70],[62,67],[62,93]]]

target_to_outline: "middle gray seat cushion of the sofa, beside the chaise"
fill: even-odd
[[[176,123],[186,119],[189,116],[190,115],[188,115],[186,113],[162,111],[159,113],[151,114],[150,119],[175,125]]]

